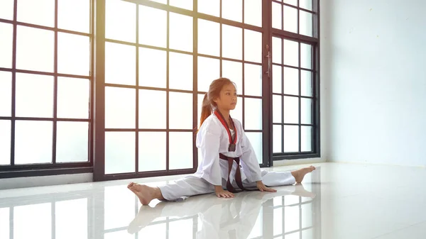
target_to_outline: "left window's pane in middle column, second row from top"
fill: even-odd
[[[51,30],[17,26],[16,68],[53,72],[55,34]]]

